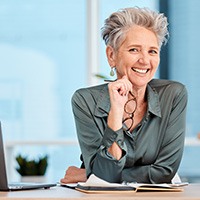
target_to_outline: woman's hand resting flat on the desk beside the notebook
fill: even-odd
[[[86,170],[75,166],[70,166],[66,172],[64,178],[60,179],[61,183],[78,183],[85,182],[87,180]]]

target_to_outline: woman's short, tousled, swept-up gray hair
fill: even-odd
[[[105,20],[101,29],[105,44],[117,50],[124,41],[126,32],[134,25],[153,31],[160,47],[163,43],[167,43],[168,22],[164,14],[151,11],[148,8],[133,7],[114,12]]]

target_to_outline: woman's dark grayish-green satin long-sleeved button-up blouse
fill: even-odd
[[[183,154],[187,91],[181,83],[153,79],[146,95],[146,115],[130,133],[107,126],[107,84],[74,93],[72,109],[87,176],[93,173],[109,182],[171,182]],[[120,160],[107,151],[114,141],[123,150]]]

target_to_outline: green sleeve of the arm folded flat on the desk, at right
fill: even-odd
[[[180,89],[180,88],[179,88]],[[154,163],[137,165],[123,170],[122,179],[136,182],[171,182],[181,162],[186,124],[187,91],[172,91],[175,98],[168,100],[165,112],[169,113],[166,128],[163,129],[163,141]],[[164,120],[166,120],[164,118]]]

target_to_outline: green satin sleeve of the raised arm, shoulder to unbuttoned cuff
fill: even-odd
[[[121,128],[118,131],[113,131],[106,126],[102,133],[99,126],[103,125],[96,123],[93,116],[94,106],[92,105],[94,104],[92,98],[87,97],[86,100],[84,95],[79,92],[76,92],[72,97],[77,136],[86,173],[87,176],[93,173],[104,180],[119,182],[126,154],[123,130]],[[117,142],[123,150],[123,157],[120,160],[113,158],[107,151],[113,142]]]

